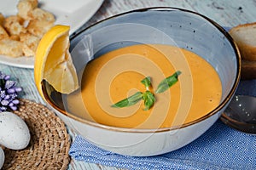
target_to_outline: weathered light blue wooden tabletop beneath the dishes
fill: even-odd
[[[96,14],[82,26],[85,28],[99,20],[126,11],[145,7],[168,6],[186,8],[206,15],[221,26],[237,26],[256,21],[256,1],[254,0],[106,0]],[[81,28],[81,29],[82,29]],[[256,36],[256,35],[255,35]],[[33,70],[0,64],[0,71],[15,77],[23,88],[24,99],[43,103],[34,85]],[[67,127],[72,139],[76,135]],[[68,169],[118,169],[93,163],[71,160]]]

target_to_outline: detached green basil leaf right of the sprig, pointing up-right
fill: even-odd
[[[160,94],[165,92],[168,88],[170,88],[173,84],[177,82],[177,77],[181,74],[181,71],[175,72],[171,77],[167,77],[158,85],[155,94]]]

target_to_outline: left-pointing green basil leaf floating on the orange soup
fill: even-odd
[[[130,97],[126,99],[122,99],[119,102],[115,103],[114,105],[111,105],[111,107],[128,107],[131,105],[137,104],[138,101],[143,99],[143,93],[137,92],[136,94],[131,95]]]

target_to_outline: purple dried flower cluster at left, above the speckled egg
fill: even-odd
[[[0,112],[16,111],[20,101],[17,99],[22,88],[16,87],[15,81],[9,80],[10,76],[0,71]]]

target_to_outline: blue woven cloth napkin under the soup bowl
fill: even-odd
[[[243,81],[237,94],[256,96],[256,80]],[[238,132],[223,122],[179,150],[160,156],[121,156],[77,136],[69,155],[79,161],[129,169],[256,169],[256,135]]]

